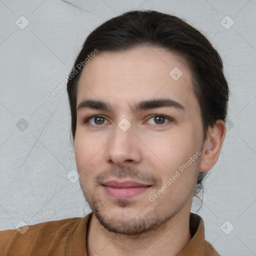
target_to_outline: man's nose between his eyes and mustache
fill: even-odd
[[[107,162],[123,166],[127,163],[141,161],[141,142],[133,132],[132,125],[126,131],[116,125],[113,137],[106,145],[105,157]]]

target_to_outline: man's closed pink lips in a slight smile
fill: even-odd
[[[152,185],[143,184],[133,180],[109,180],[101,184],[105,192],[115,199],[131,198],[148,190]]]

